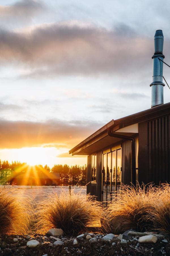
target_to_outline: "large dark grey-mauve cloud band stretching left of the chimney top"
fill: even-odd
[[[30,31],[0,31],[0,62],[24,64],[26,76],[122,75],[152,69],[153,38],[131,28],[42,24]],[[24,74],[25,76],[25,74]]]

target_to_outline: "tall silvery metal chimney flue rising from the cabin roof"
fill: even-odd
[[[153,82],[151,86],[151,108],[163,104],[163,32],[156,30],[154,36],[154,55],[153,59]],[[162,61],[160,61],[160,59]]]

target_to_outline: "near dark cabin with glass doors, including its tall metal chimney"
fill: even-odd
[[[112,119],[69,151],[88,156],[87,194],[106,205],[122,185],[170,182],[170,102],[163,104],[162,30],[156,31],[154,46],[151,108]]]

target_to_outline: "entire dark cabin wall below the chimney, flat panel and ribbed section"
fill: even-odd
[[[139,184],[170,182],[170,116],[139,123]]]

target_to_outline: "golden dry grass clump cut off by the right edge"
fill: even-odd
[[[150,220],[154,227],[163,233],[170,234],[170,185],[162,184],[156,189],[157,200],[152,201],[149,210]]]

